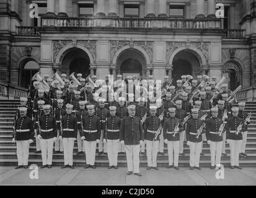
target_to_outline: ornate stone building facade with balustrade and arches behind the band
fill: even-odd
[[[224,18],[216,18],[216,4]],[[38,9],[35,9],[38,6]],[[33,74],[229,76],[256,100],[256,0],[3,0],[0,95],[19,96]],[[38,18],[33,18],[38,12]]]

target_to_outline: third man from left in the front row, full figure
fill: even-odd
[[[64,166],[61,168],[74,168],[73,150],[74,140],[77,137],[77,118],[72,114],[73,105],[66,105],[66,115],[61,119],[60,139],[63,139]]]

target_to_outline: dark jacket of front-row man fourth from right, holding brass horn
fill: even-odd
[[[174,129],[176,124],[178,124],[179,131],[174,135]],[[180,123],[180,119],[178,118],[168,118],[166,121],[164,121],[164,127],[163,127],[163,133],[164,133],[164,139],[167,139],[168,141],[179,141],[180,140],[180,134],[179,132],[183,131],[183,126]],[[169,132],[173,132],[170,134]]]

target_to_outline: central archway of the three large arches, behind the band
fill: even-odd
[[[117,74],[133,75],[143,79],[146,75],[146,59],[137,49],[126,49],[117,59]]]

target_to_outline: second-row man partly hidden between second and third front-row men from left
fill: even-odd
[[[63,99],[58,99],[58,106],[55,108],[55,119],[56,119],[56,125],[57,125],[57,138],[55,141],[55,152],[56,153],[61,153],[63,154],[63,139],[60,139],[60,134],[61,134],[61,118],[66,115],[66,110],[64,109],[64,100]]]

